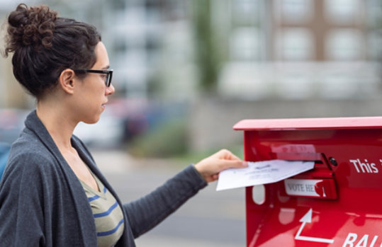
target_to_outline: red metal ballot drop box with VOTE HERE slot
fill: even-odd
[[[244,131],[247,161],[315,163],[246,188],[247,246],[382,246],[382,117],[242,120],[234,129]]]

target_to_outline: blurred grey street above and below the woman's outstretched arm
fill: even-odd
[[[157,188],[188,164],[138,160],[123,151],[92,150],[97,165],[123,202]],[[136,239],[137,246],[245,246],[245,190],[216,192],[210,183],[155,229]]]

